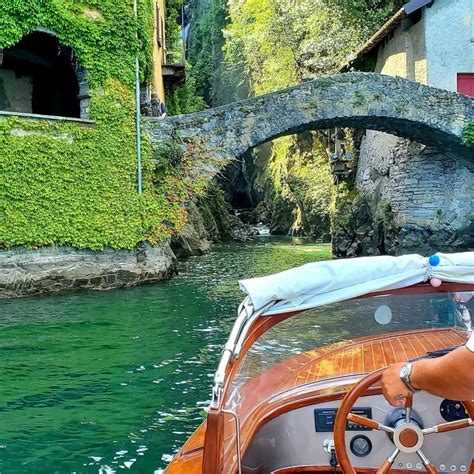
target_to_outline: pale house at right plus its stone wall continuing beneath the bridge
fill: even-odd
[[[345,69],[400,76],[474,96],[473,18],[473,0],[412,0]],[[356,186],[370,208],[374,237],[369,252],[474,248],[472,157],[368,130]],[[396,230],[384,231],[377,216]]]

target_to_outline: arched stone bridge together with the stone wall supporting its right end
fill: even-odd
[[[349,231],[333,235],[336,254],[354,256],[474,249],[474,151],[462,144],[463,130],[473,121],[469,97],[402,78],[347,73],[152,119],[148,129],[157,151],[170,140],[184,147],[201,143],[199,172],[209,177],[284,135],[333,127],[369,130],[356,175],[362,201],[349,203],[357,206],[352,214],[358,217]]]

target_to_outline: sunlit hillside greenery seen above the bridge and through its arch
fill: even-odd
[[[196,94],[217,106],[337,73],[403,3],[192,0],[189,62]],[[347,135],[352,143],[350,131]],[[327,239],[337,195],[351,187],[350,180],[339,190],[333,185],[328,145],[314,132],[257,150],[244,160],[244,176],[233,167],[225,184],[229,199],[247,194],[245,204],[260,203],[275,232]]]

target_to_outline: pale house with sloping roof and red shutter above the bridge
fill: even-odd
[[[353,59],[374,71],[474,97],[474,3],[413,0],[358,51]]]

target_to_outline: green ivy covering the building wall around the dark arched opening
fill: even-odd
[[[136,190],[135,55],[149,81],[152,0],[139,1],[138,23],[132,0],[2,0],[0,49],[38,28],[86,69],[95,124],[0,118],[0,248],[131,249],[179,230],[193,188],[183,164],[156,175],[146,137]]]

